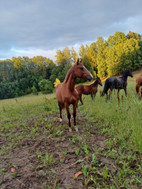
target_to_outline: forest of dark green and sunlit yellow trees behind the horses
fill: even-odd
[[[65,47],[56,52],[56,60],[36,56],[12,57],[0,60],[0,99],[19,97],[38,92],[52,93],[54,81],[64,80],[68,69],[78,57],[94,78],[105,79],[122,74],[126,69],[136,70],[142,67],[142,35],[129,31],[115,32],[106,40],[98,37],[89,46],[83,44],[79,53]],[[77,79],[77,83],[82,80]]]

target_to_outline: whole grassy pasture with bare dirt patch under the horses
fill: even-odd
[[[135,77],[128,78],[128,97],[119,105],[116,91],[107,103],[99,91],[94,101],[83,96],[79,132],[71,133],[65,112],[59,122],[55,94],[0,101],[0,188],[142,188],[142,100]]]

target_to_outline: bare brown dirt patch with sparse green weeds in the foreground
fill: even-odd
[[[54,114],[42,115],[15,127],[11,142],[8,136],[1,136],[0,144],[5,149],[0,156],[0,188],[118,188],[109,176],[117,174],[115,161],[104,155],[106,137],[99,134],[97,125],[81,115],[78,133],[69,133],[66,124],[66,119],[60,124]],[[82,174],[74,179],[79,171]]]

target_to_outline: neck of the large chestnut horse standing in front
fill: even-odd
[[[64,83],[67,84],[67,88],[68,88],[70,91],[73,91],[73,90],[74,90],[74,87],[75,87],[75,79],[76,79],[76,77],[73,75],[73,72],[69,72],[69,73],[67,74],[67,76],[65,77]]]

